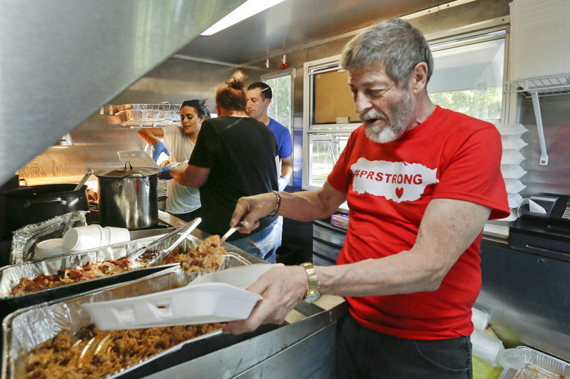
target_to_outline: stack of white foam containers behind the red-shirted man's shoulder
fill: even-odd
[[[507,188],[509,197],[509,209],[511,214],[504,219],[492,220],[485,224],[483,234],[507,238],[509,237],[509,225],[517,219],[517,209],[523,202],[523,198],[519,192],[527,186],[522,184],[521,178],[527,174],[522,169],[521,163],[525,159],[521,154],[521,149],[527,146],[522,140],[522,135],[528,131],[521,124],[497,125],[497,130],[501,134],[503,145],[503,154],[501,157],[501,173],[504,185]]]

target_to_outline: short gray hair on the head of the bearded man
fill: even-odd
[[[403,85],[420,63],[427,63],[427,81],[433,72],[430,46],[423,33],[402,19],[377,22],[348,42],[341,55],[345,70],[384,64],[390,78]]]

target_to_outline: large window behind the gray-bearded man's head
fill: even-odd
[[[442,36],[442,34],[440,34]],[[489,25],[460,36],[429,39],[435,70],[427,85],[433,103],[495,125],[504,116],[507,27]],[[360,125],[340,56],[304,65],[303,188],[322,187],[350,133]]]

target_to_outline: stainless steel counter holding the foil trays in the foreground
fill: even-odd
[[[172,226],[182,222],[165,212],[159,218]],[[199,229],[192,235],[208,237]],[[253,263],[264,262],[234,252]],[[281,326],[261,326],[267,331],[147,378],[335,378],[336,321],[346,314],[344,298],[323,295],[314,303],[299,303]]]

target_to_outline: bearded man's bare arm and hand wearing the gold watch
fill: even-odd
[[[447,271],[483,229],[491,210],[455,199],[432,199],[412,249],[355,264],[316,266],[323,294],[382,296],[435,291]],[[249,286],[263,296],[249,318],[228,323],[225,333],[254,331],[261,323],[282,323],[309,288],[301,266],[278,267]]]

